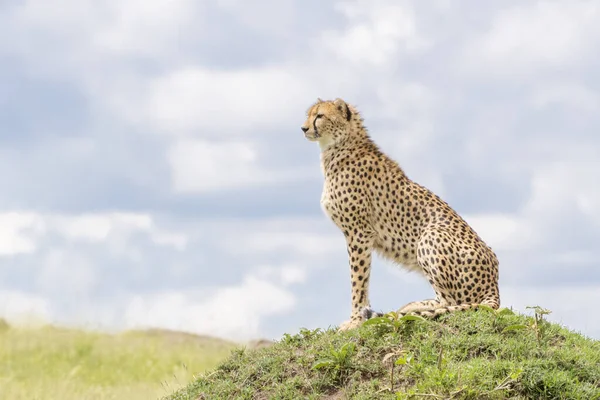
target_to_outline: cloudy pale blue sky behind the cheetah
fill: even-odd
[[[0,0],[0,317],[244,341],[346,320],[318,97],[600,339],[600,4]],[[433,294],[375,258],[371,304]]]

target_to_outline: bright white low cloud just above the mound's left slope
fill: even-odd
[[[198,289],[200,295],[202,289]],[[294,296],[279,286],[247,276],[237,286],[208,296],[189,291],[135,296],[125,309],[129,328],[161,327],[232,340],[254,339],[263,318],[292,310]]]

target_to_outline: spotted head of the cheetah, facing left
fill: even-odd
[[[328,148],[348,135],[354,111],[342,99],[318,99],[306,113],[302,132],[311,142],[317,141],[322,148]]]

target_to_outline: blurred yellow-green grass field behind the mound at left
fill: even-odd
[[[112,335],[0,320],[0,399],[157,399],[214,368],[234,347],[181,332]]]

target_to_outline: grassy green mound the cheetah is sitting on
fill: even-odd
[[[600,399],[600,342],[511,310],[374,319],[236,350],[169,400]]]

